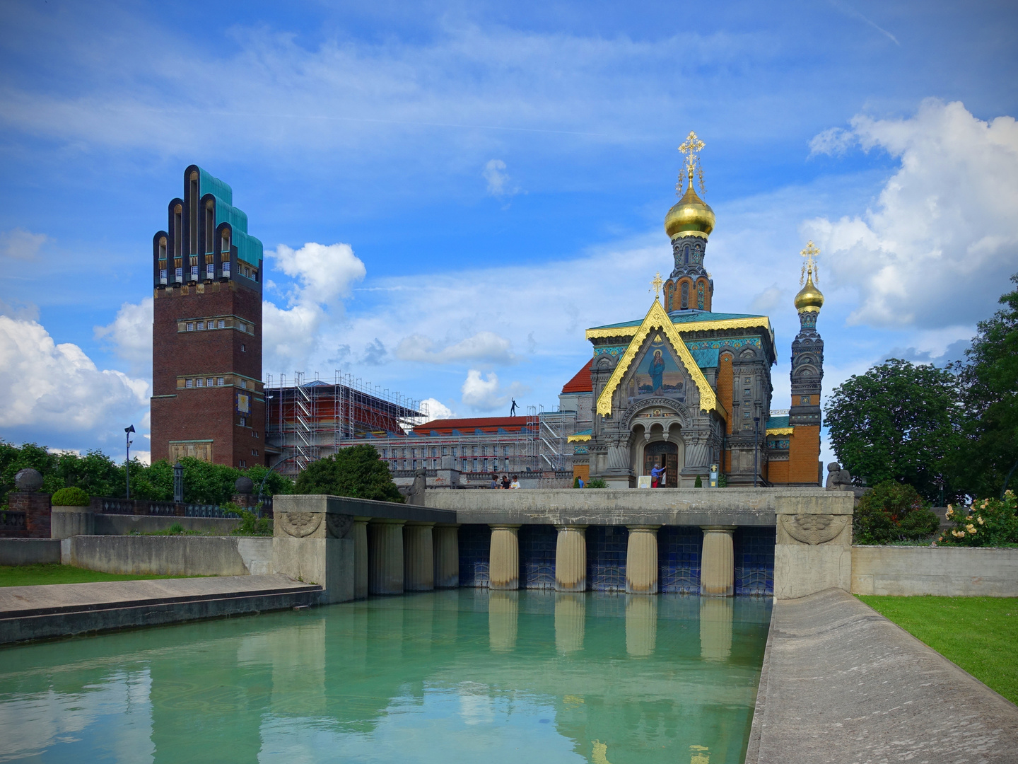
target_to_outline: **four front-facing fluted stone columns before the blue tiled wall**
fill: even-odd
[[[586,591],[586,536],[584,525],[556,526],[555,590]],[[661,526],[627,526],[626,593],[658,593],[658,529]],[[735,594],[735,526],[701,526],[700,594],[731,597]],[[519,589],[519,525],[491,525],[489,588]],[[374,593],[374,592],[373,592]]]

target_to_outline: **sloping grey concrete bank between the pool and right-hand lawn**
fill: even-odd
[[[1018,707],[840,590],[774,603],[746,764],[1013,762]]]

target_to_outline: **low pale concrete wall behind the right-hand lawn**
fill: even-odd
[[[1018,597],[1018,549],[853,546],[852,592]]]

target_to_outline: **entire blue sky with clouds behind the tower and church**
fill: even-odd
[[[788,405],[807,238],[825,389],[958,356],[1018,271],[1008,3],[5,3],[0,436],[147,432],[151,240],[196,163],[267,257],[265,371],[554,408],[671,269],[706,143],[715,309]],[[144,443],[137,443],[143,446]]]

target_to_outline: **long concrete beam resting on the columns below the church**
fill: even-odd
[[[425,492],[425,502],[429,507],[453,509],[459,523],[543,525],[773,527],[782,499],[811,502],[810,505],[817,506],[846,501],[841,492],[825,491],[822,488],[582,488]]]

